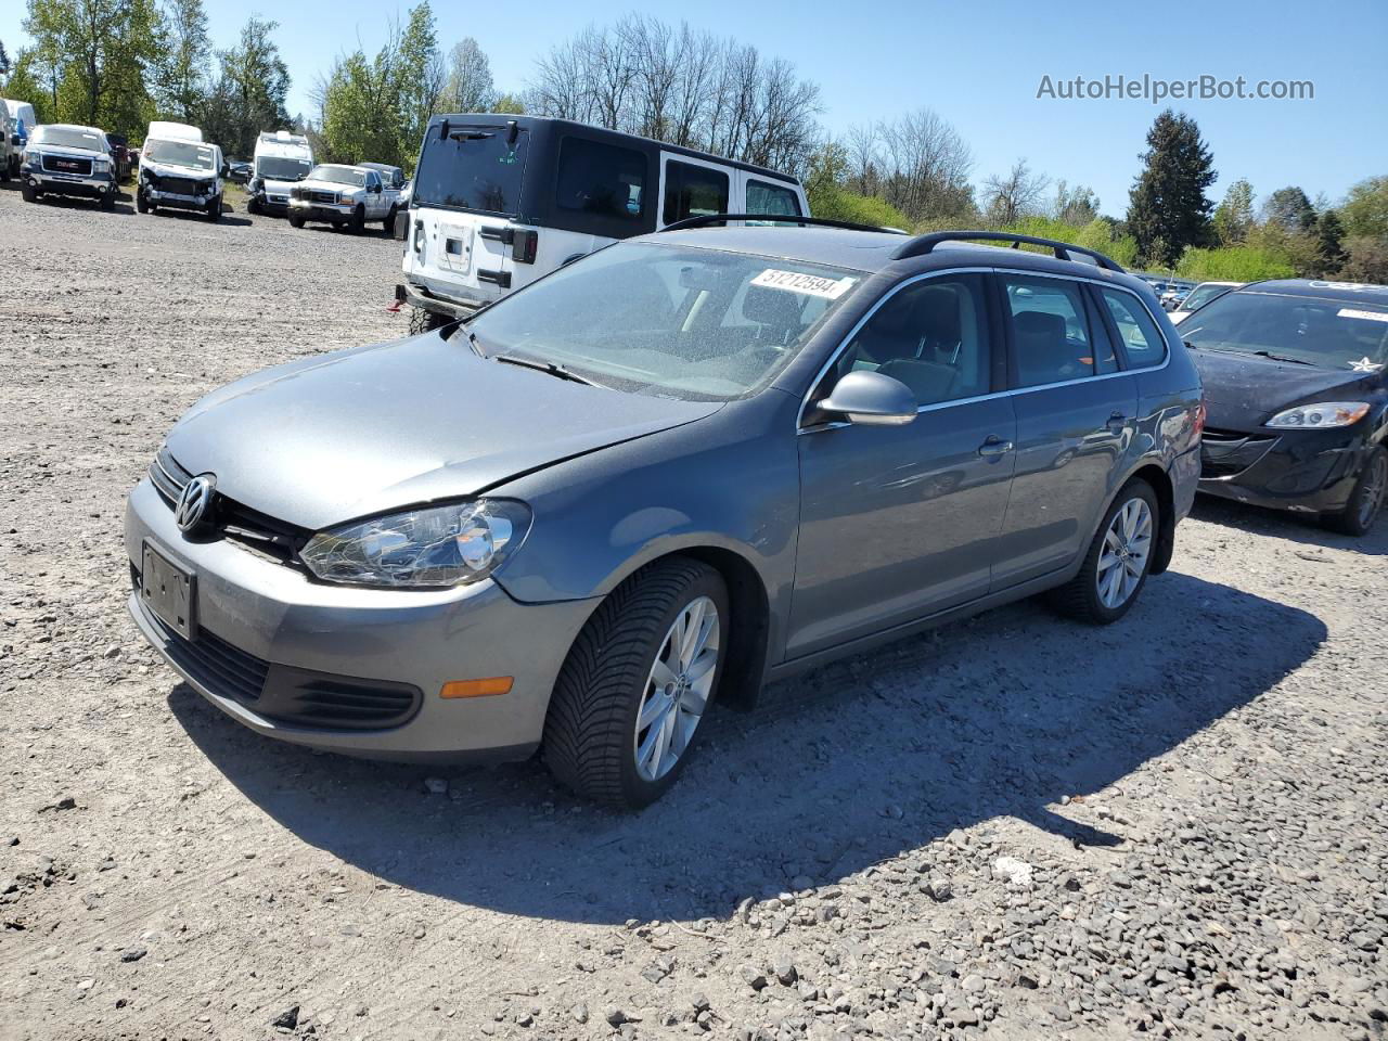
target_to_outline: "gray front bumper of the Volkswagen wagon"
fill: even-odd
[[[366,758],[526,758],[540,743],[569,647],[594,608],[590,600],[520,604],[493,582],[439,591],[315,583],[233,543],[185,540],[147,479],[130,493],[125,514],[136,582],[146,543],[194,575],[198,634],[189,641],[174,633],[137,594],[130,613],[194,690],[266,737]],[[450,680],[490,676],[512,676],[511,693],[439,695]],[[379,687],[401,697],[412,688],[418,698],[412,713],[387,729],[276,718],[273,706],[314,684]]]

